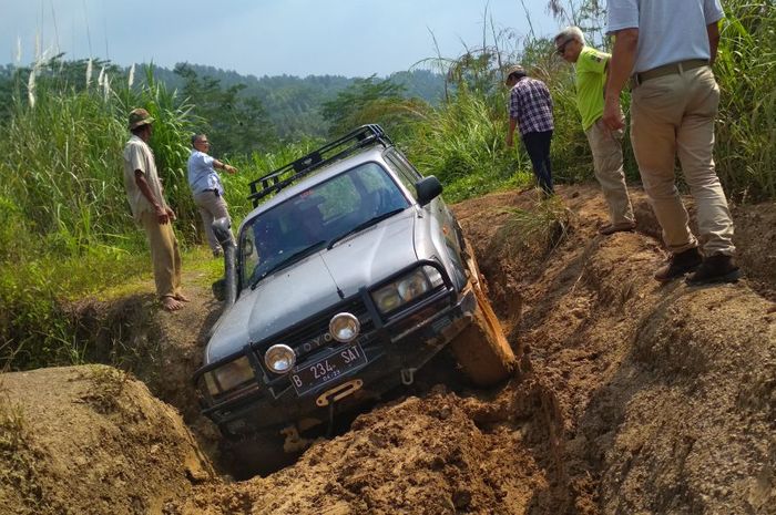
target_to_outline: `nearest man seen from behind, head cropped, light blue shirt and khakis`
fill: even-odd
[[[603,120],[623,127],[620,92],[630,76],[633,152],[671,253],[655,272],[661,282],[693,270],[691,285],[739,277],[733,219],[712,157],[719,87],[711,64],[722,17],[719,0],[609,0],[609,33],[616,39]],[[676,189],[676,155],[695,198],[703,256]]]

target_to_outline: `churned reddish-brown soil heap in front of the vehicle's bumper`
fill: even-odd
[[[533,447],[548,439],[542,388],[532,382],[492,402],[436,387],[360,415],[351,430],[313,445],[265,478],[197,488],[176,514],[522,514],[549,508],[550,478]]]

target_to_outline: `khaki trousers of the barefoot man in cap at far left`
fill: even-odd
[[[160,298],[181,293],[181,253],[171,223],[160,224],[156,215],[145,212],[141,223],[149,237],[151,260],[154,267],[154,281]]]

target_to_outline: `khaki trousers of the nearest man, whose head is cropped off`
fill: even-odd
[[[696,247],[675,185],[678,154],[695,198],[704,254],[733,255],[733,219],[714,168],[714,117],[719,87],[708,66],[643,82],[633,90],[631,138],[644,189],[668,250]]]

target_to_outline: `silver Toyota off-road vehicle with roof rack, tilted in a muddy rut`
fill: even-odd
[[[226,307],[194,381],[243,465],[272,468],[448,343],[477,385],[511,373],[441,190],[365,125],[252,182],[236,244],[219,220]]]

